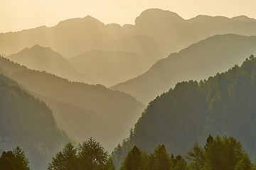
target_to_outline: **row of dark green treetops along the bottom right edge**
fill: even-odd
[[[196,143],[186,157],[169,156],[164,145],[146,154],[134,146],[120,166],[120,170],[255,170],[242,144],[234,137],[213,138],[206,145]]]

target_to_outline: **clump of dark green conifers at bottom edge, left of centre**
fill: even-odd
[[[114,170],[111,157],[92,137],[78,147],[68,143],[48,165],[48,170]]]

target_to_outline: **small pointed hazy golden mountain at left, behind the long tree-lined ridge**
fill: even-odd
[[[51,50],[50,47],[34,45],[14,55],[9,55],[8,58],[29,69],[46,71],[72,81],[90,82],[89,78],[76,71],[64,57],[58,54],[58,52]]]

